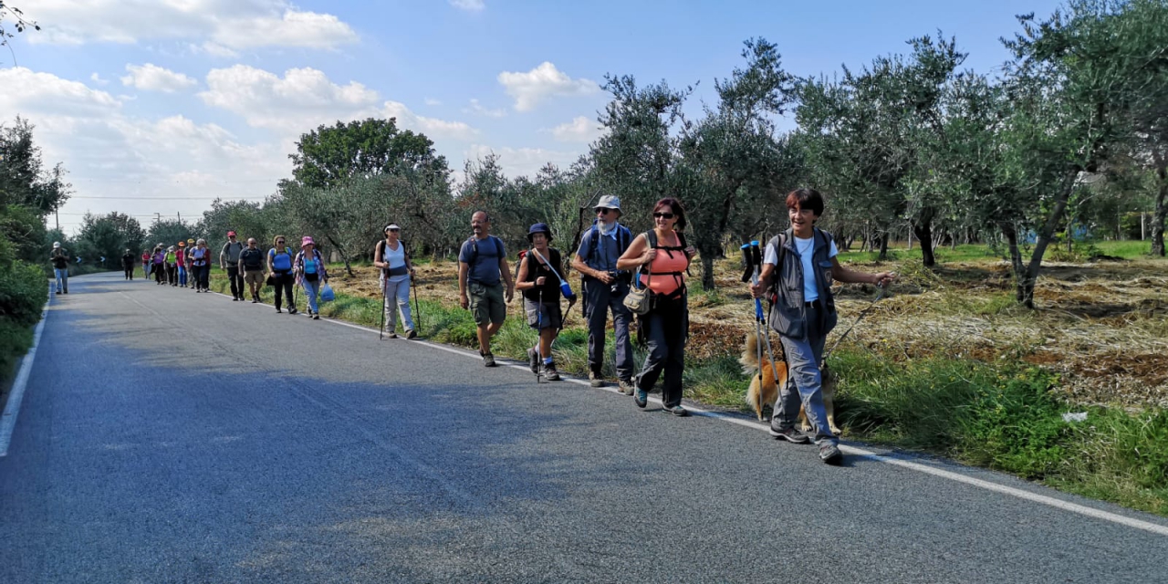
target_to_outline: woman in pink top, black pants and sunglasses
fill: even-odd
[[[633,398],[644,409],[649,390],[665,373],[661,403],[665,411],[675,416],[689,415],[681,405],[681,374],[689,336],[686,270],[696,250],[686,244],[681,232],[684,228],[686,209],[681,202],[662,199],[653,206],[653,229],[638,235],[617,260],[618,270],[637,270],[641,286],[652,291],[652,308],[640,317],[649,354],[641,373],[633,378]]]

